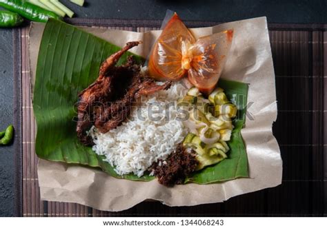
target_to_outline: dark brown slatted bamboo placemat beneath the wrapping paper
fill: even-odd
[[[161,23],[110,19],[69,22],[137,32],[157,30]],[[217,23],[187,21],[186,24],[203,27]],[[34,151],[36,125],[30,99],[28,28],[19,30],[14,40],[18,41],[17,50],[21,52],[15,56],[21,63],[18,72],[21,79],[18,115],[22,118],[21,216],[326,216],[327,26],[272,24],[269,28],[279,109],[273,130],[284,161],[282,185],[237,196],[225,203],[167,207],[159,202],[144,202],[117,213],[40,200],[38,158]]]

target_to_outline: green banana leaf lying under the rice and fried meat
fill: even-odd
[[[46,160],[98,167],[116,178],[150,181],[154,177],[117,175],[114,167],[103,161],[103,156],[79,143],[75,133],[77,94],[97,79],[102,61],[119,49],[72,25],[49,19],[41,40],[34,85],[33,109],[37,121],[35,149],[37,156]],[[117,64],[124,63],[129,55],[135,56],[137,62],[143,62],[141,56],[128,52]],[[245,99],[242,104],[237,99],[241,112],[235,120],[228,159],[201,170],[187,182],[205,184],[248,176],[246,149],[240,134],[245,120],[248,87],[244,83],[231,81],[220,83],[226,89],[228,98],[237,94]]]

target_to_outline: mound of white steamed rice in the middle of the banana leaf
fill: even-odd
[[[158,159],[165,159],[172,153],[176,145],[186,136],[186,127],[176,120],[179,115],[175,105],[165,105],[176,102],[184,96],[187,89],[181,83],[173,83],[169,90],[164,90],[142,98],[141,107],[136,107],[129,118],[116,129],[101,134],[95,127],[90,134],[95,142],[92,149],[99,155],[106,156],[105,160],[115,167],[119,175],[136,174],[142,176],[146,170]],[[163,108],[162,112],[152,114],[157,119],[149,118],[149,105]],[[143,119],[138,118],[138,112]],[[170,114],[169,121],[164,118]]]

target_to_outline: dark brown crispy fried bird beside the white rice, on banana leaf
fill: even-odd
[[[153,79],[141,75],[140,65],[135,63],[132,56],[128,57],[125,65],[115,66],[127,50],[139,43],[129,42],[103,61],[97,80],[79,94],[76,132],[84,145],[94,144],[86,134],[92,125],[106,133],[126,120],[139,96],[170,87],[171,82],[157,85]]]

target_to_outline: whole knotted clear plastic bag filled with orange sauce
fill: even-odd
[[[226,63],[232,35],[232,30],[226,30],[196,41],[175,13],[152,48],[149,74],[161,81],[177,81],[188,75],[190,83],[209,94]]]

